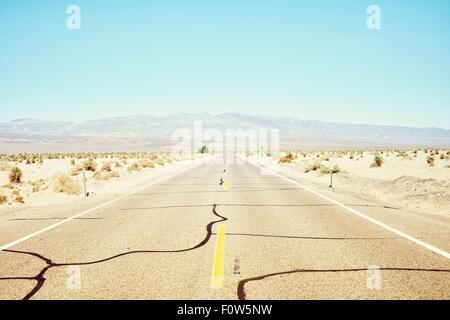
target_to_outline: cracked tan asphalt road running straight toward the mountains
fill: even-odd
[[[202,165],[1,251],[0,298],[450,298],[450,260],[426,247],[450,251],[449,219],[322,193],[425,246],[251,164]],[[0,246],[82,201],[2,221]]]

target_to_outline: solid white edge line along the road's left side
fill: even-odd
[[[70,220],[73,220],[73,219],[75,219],[75,218],[81,217],[81,216],[83,216],[83,215],[85,215],[85,214],[88,214],[88,213],[90,213],[90,212],[92,212],[92,211],[95,211],[95,210],[97,210],[97,209],[106,207],[106,206],[110,205],[111,203],[114,203],[114,202],[117,202],[117,201],[119,201],[119,200],[122,200],[122,199],[124,199],[124,198],[126,198],[126,197],[128,197],[128,196],[131,196],[132,194],[138,193],[138,192],[140,192],[140,191],[142,191],[142,190],[145,190],[145,189],[147,189],[147,188],[149,188],[149,187],[151,187],[151,186],[153,186],[153,185],[155,185],[155,184],[158,184],[158,183],[160,183],[160,182],[162,182],[162,181],[168,180],[168,179],[170,179],[170,178],[172,178],[172,177],[174,177],[174,176],[176,176],[176,175],[178,175],[178,174],[181,174],[181,173],[183,173],[183,172],[187,172],[187,171],[189,171],[189,170],[192,170],[192,169],[194,169],[194,168],[197,168],[198,166],[200,166],[200,165],[203,164],[203,163],[204,163],[204,160],[201,160],[201,161],[199,161],[199,163],[196,163],[196,164],[194,164],[194,165],[192,165],[192,166],[189,166],[188,168],[185,168],[185,169],[177,170],[176,172],[174,172],[174,173],[172,173],[172,174],[170,174],[170,175],[168,175],[168,176],[166,176],[166,177],[162,177],[162,178],[160,178],[160,179],[158,179],[158,180],[155,180],[155,181],[153,181],[153,182],[151,182],[151,183],[148,183],[148,184],[146,184],[145,186],[143,186],[142,188],[139,188],[139,189],[137,189],[137,190],[135,190],[135,191],[128,192],[127,194],[124,194],[123,196],[120,196],[120,197],[114,198],[114,199],[112,199],[112,200],[109,200],[109,201],[107,201],[107,202],[104,202],[104,203],[102,203],[102,204],[100,204],[100,205],[98,205],[98,206],[95,206],[95,207],[93,207],[93,208],[91,208],[91,209],[88,209],[88,210],[85,210],[85,211],[83,211],[83,212],[77,213],[76,215],[73,215],[73,216],[71,216],[71,217],[65,218],[64,220],[61,220],[61,221],[59,221],[59,222],[57,222],[57,223],[55,223],[55,224],[49,225],[48,227],[45,227],[45,228],[40,229],[40,230],[38,230],[38,231],[36,231],[36,232],[33,232],[33,233],[31,233],[31,234],[29,234],[29,235],[27,235],[27,236],[24,236],[24,237],[22,237],[22,238],[20,238],[20,239],[17,239],[17,240],[15,240],[15,241],[13,241],[13,242],[7,243],[7,244],[5,244],[5,245],[3,245],[3,246],[0,247],[0,251],[6,250],[6,249],[8,249],[8,248],[11,248],[12,246],[15,246],[15,245],[21,243],[21,242],[27,241],[27,240],[29,240],[29,239],[31,239],[31,238],[33,238],[33,237],[36,237],[36,236],[38,236],[38,235],[40,235],[40,234],[42,234],[42,233],[44,233],[44,232],[47,232],[47,231],[49,231],[49,230],[51,230],[51,229],[54,229],[54,228],[56,228],[56,227],[58,227],[58,226],[60,226],[60,225],[62,225],[62,224],[64,224],[64,223],[66,223],[66,222],[68,222],[68,221],[70,221]]]

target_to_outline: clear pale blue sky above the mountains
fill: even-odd
[[[70,4],[80,30],[66,28]],[[381,30],[366,27],[371,4]],[[0,112],[450,128],[450,1],[3,0]]]

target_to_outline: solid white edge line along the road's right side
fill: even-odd
[[[331,202],[331,203],[334,203],[334,204],[336,204],[337,206],[339,206],[339,207],[341,207],[341,208],[343,208],[343,209],[346,209],[346,210],[350,211],[351,213],[357,215],[357,216],[360,217],[360,218],[363,218],[363,219],[365,219],[365,220],[367,220],[367,221],[370,221],[370,222],[376,224],[377,226],[379,226],[379,227],[381,227],[381,228],[384,228],[384,229],[386,229],[386,230],[389,230],[389,231],[395,233],[396,235],[398,235],[398,236],[400,236],[400,237],[402,237],[402,238],[405,238],[405,239],[407,239],[407,240],[409,240],[409,241],[411,241],[411,242],[414,242],[415,244],[417,244],[417,245],[419,245],[419,246],[421,246],[421,247],[424,247],[424,248],[426,248],[426,249],[428,249],[428,250],[431,250],[431,251],[433,251],[434,253],[437,253],[437,254],[439,254],[439,255],[441,255],[441,256],[447,258],[447,259],[450,259],[450,253],[448,253],[447,251],[444,251],[444,250],[442,250],[442,249],[439,249],[439,248],[437,248],[437,247],[435,247],[435,246],[433,246],[433,245],[431,245],[431,244],[429,244],[429,243],[427,243],[427,242],[424,242],[424,241],[422,241],[422,240],[416,239],[416,238],[414,238],[413,236],[410,236],[409,234],[404,233],[403,231],[400,231],[400,230],[397,230],[397,229],[395,229],[395,228],[393,228],[393,227],[391,227],[391,226],[388,226],[387,224],[384,224],[383,222],[380,222],[380,221],[378,221],[378,220],[376,220],[376,219],[374,219],[374,218],[372,218],[372,217],[369,217],[369,216],[365,215],[364,213],[361,213],[361,212],[359,212],[359,211],[357,211],[357,210],[355,210],[355,209],[353,209],[353,208],[350,208],[350,207],[346,206],[346,205],[343,204],[343,203],[340,203],[340,202],[338,202],[338,201],[336,201],[336,200],[333,200],[333,199],[331,199],[331,198],[329,198],[329,197],[327,197],[327,196],[325,196],[325,195],[323,195],[323,194],[321,194],[321,193],[319,193],[319,192],[317,192],[317,191],[315,191],[315,190],[313,190],[313,189],[311,189],[311,188],[308,188],[308,187],[306,187],[306,186],[304,186],[304,185],[298,183],[297,181],[295,181],[295,180],[293,180],[293,179],[290,179],[290,178],[288,178],[288,177],[286,177],[286,176],[284,176],[284,175],[282,175],[282,174],[279,174],[279,173],[274,172],[274,171],[272,171],[272,170],[269,170],[269,169],[267,169],[267,168],[261,167],[260,165],[251,163],[251,162],[248,161],[247,159],[244,159],[244,160],[245,160],[246,162],[250,163],[251,165],[254,165],[254,166],[257,167],[257,168],[260,168],[261,170],[266,170],[266,171],[270,172],[270,174],[272,174],[272,175],[275,175],[275,176],[277,176],[277,177],[279,177],[279,178],[282,178],[282,179],[284,179],[284,180],[286,180],[286,181],[289,181],[289,182],[295,184],[296,186],[299,186],[300,188],[302,188],[302,189],[304,189],[304,190],[306,190],[306,191],[309,191],[309,192],[315,194],[316,196],[321,197],[322,199],[325,199],[325,200],[327,200],[327,201],[329,201],[329,202]]]

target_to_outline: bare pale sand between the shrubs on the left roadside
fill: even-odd
[[[153,161],[153,167],[140,166],[139,169],[130,170],[134,163],[142,159],[129,158],[97,158],[95,171],[85,171],[86,188],[89,192],[88,203],[97,203],[132,192],[151,181],[158,180],[177,171],[194,166],[208,157],[196,155],[194,158],[188,156],[175,156],[170,160]],[[71,173],[74,167],[82,164],[86,159],[74,161],[72,158],[46,159],[43,163],[5,163],[3,165],[11,168],[17,166],[22,171],[21,183],[9,182],[9,170],[0,171],[0,194],[7,197],[7,201],[0,205],[0,216],[5,218],[9,214],[26,213],[32,211],[43,211],[46,208],[58,207],[61,212],[65,209],[76,207],[84,196],[83,172],[76,175]],[[118,162],[118,166],[115,163]],[[111,164],[111,171],[102,171],[105,163]],[[96,173],[97,172],[97,173]],[[114,175],[108,175],[111,172]],[[54,177],[63,174],[69,176],[78,186],[77,194],[55,191]],[[106,179],[103,175],[106,174]],[[111,177],[110,177],[111,176]],[[16,201],[16,194],[23,198]],[[83,203],[86,201],[83,201]]]

